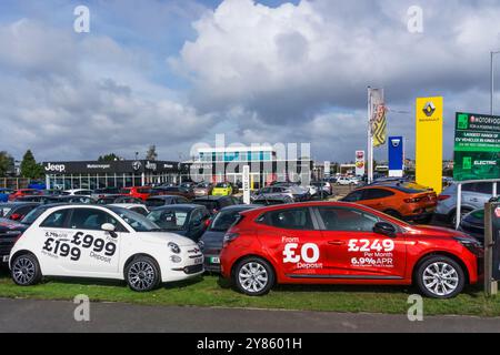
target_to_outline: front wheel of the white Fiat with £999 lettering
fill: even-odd
[[[124,277],[132,291],[149,292],[160,286],[158,263],[149,256],[138,256],[127,265]]]

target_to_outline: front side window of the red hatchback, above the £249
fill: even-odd
[[[372,232],[380,219],[357,209],[318,207],[327,231]]]

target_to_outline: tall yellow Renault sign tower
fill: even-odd
[[[416,106],[417,183],[442,191],[443,99],[419,98]]]

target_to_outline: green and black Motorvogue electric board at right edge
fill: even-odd
[[[500,116],[457,113],[453,178],[500,179]]]

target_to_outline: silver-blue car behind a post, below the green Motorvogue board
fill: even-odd
[[[500,184],[497,184],[497,186],[500,187]],[[444,191],[438,196],[438,206],[436,207],[436,219],[438,221],[444,221],[453,226],[457,223],[457,183],[452,183],[450,186],[444,189]],[[483,209],[484,204],[492,196],[493,184],[490,182],[478,182],[462,185],[460,219],[474,210]]]

